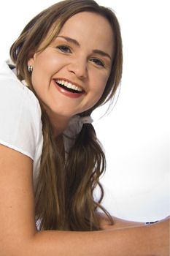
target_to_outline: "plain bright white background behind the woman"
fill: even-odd
[[[28,21],[53,0],[0,4],[0,64]],[[123,79],[112,113],[94,113],[107,154],[104,206],[123,219],[150,221],[170,213],[169,1],[98,0],[112,7],[123,36]]]

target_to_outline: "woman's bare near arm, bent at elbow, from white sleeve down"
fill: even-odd
[[[0,145],[1,256],[168,256],[169,228],[159,225],[94,232],[41,231],[34,220],[32,160]]]

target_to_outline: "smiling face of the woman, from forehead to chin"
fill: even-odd
[[[34,90],[50,116],[69,119],[98,102],[112,66],[113,37],[104,17],[80,12],[66,21],[45,50],[29,59]]]

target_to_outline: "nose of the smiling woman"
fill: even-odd
[[[88,67],[85,59],[74,59],[68,65],[69,72],[74,73],[77,78],[85,79],[88,77]]]

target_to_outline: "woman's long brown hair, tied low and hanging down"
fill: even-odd
[[[113,99],[122,75],[122,41],[120,26],[112,10],[99,6],[93,0],[65,0],[54,4],[36,15],[23,29],[12,45],[10,56],[15,63],[18,78],[26,80],[29,89],[36,94],[28,72],[28,59],[39,45],[45,46],[55,39],[63,24],[78,12],[96,12],[106,18],[114,31],[115,55],[112,69],[101,99],[80,116],[90,115],[95,108]],[[37,97],[37,95],[36,95]],[[38,98],[38,97],[37,97]],[[100,230],[98,208],[101,208],[112,223],[112,218],[101,206],[104,189],[99,178],[106,168],[106,159],[101,144],[96,138],[92,124],[84,124],[82,130],[64,159],[53,137],[50,120],[42,107],[43,149],[36,181],[36,219],[44,230]],[[98,200],[93,197],[96,187],[101,189]]]

